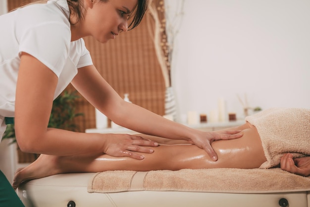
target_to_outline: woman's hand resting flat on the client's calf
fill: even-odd
[[[113,157],[131,157],[144,159],[144,156],[136,153],[153,153],[154,150],[146,146],[158,146],[158,143],[140,136],[126,134],[105,134],[105,147],[103,152]]]

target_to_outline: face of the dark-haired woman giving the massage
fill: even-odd
[[[128,18],[138,0],[89,0],[85,12],[86,33],[101,43],[115,39],[128,30]]]

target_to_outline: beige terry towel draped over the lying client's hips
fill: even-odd
[[[283,154],[310,155],[310,109],[271,108],[246,117],[254,125],[267,158],[260,168],[280,163]]]

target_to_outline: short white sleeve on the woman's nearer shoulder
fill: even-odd
[[[68,56],[70,40],[71,32],[67,25],[42,23],[22,34],[19,54],[25,52],[32,55],[59,77]]]

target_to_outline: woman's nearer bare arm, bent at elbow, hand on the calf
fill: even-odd
[[[155,142],[138,136],[48,128],[57,81],[51,69],[22,53],[15,102],[15,133],[22,151],[58,156],[106,153],[136,159],[143,159],[143,156],[135,152],[153,152],[145,146],[155,146]]]

